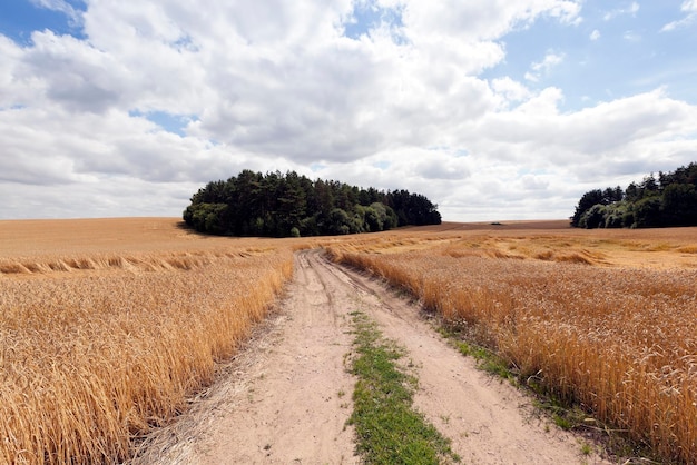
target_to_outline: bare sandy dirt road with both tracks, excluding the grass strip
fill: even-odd
[[[451,348],[416,305],[318,250],[297,255],[279,308],[193,408],[153,437],[136,463],[355,464],[346,426],[350,313],[366,313],[406,348],[416,408],[465,464],[601,464],[583,439],[534,414],[517,389]]]

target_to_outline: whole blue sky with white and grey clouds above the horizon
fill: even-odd
[[[296,170],[568,218],[697,161],[697,0],[11,0],[0,218],[180,216]]]

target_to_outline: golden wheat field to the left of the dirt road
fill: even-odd
[[[0,221],[0,463],[114,463],[186,408],[293,273],[176,219]]]

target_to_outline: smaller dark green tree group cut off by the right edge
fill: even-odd
[[[581,197],[571,226],[579,228],[656,228],[697,226],[697,162]]]

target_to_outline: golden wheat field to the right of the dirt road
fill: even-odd
[[[328,249],[495,350],[524,383],[666,461],[694,463],[695,228],[448,226]]]

